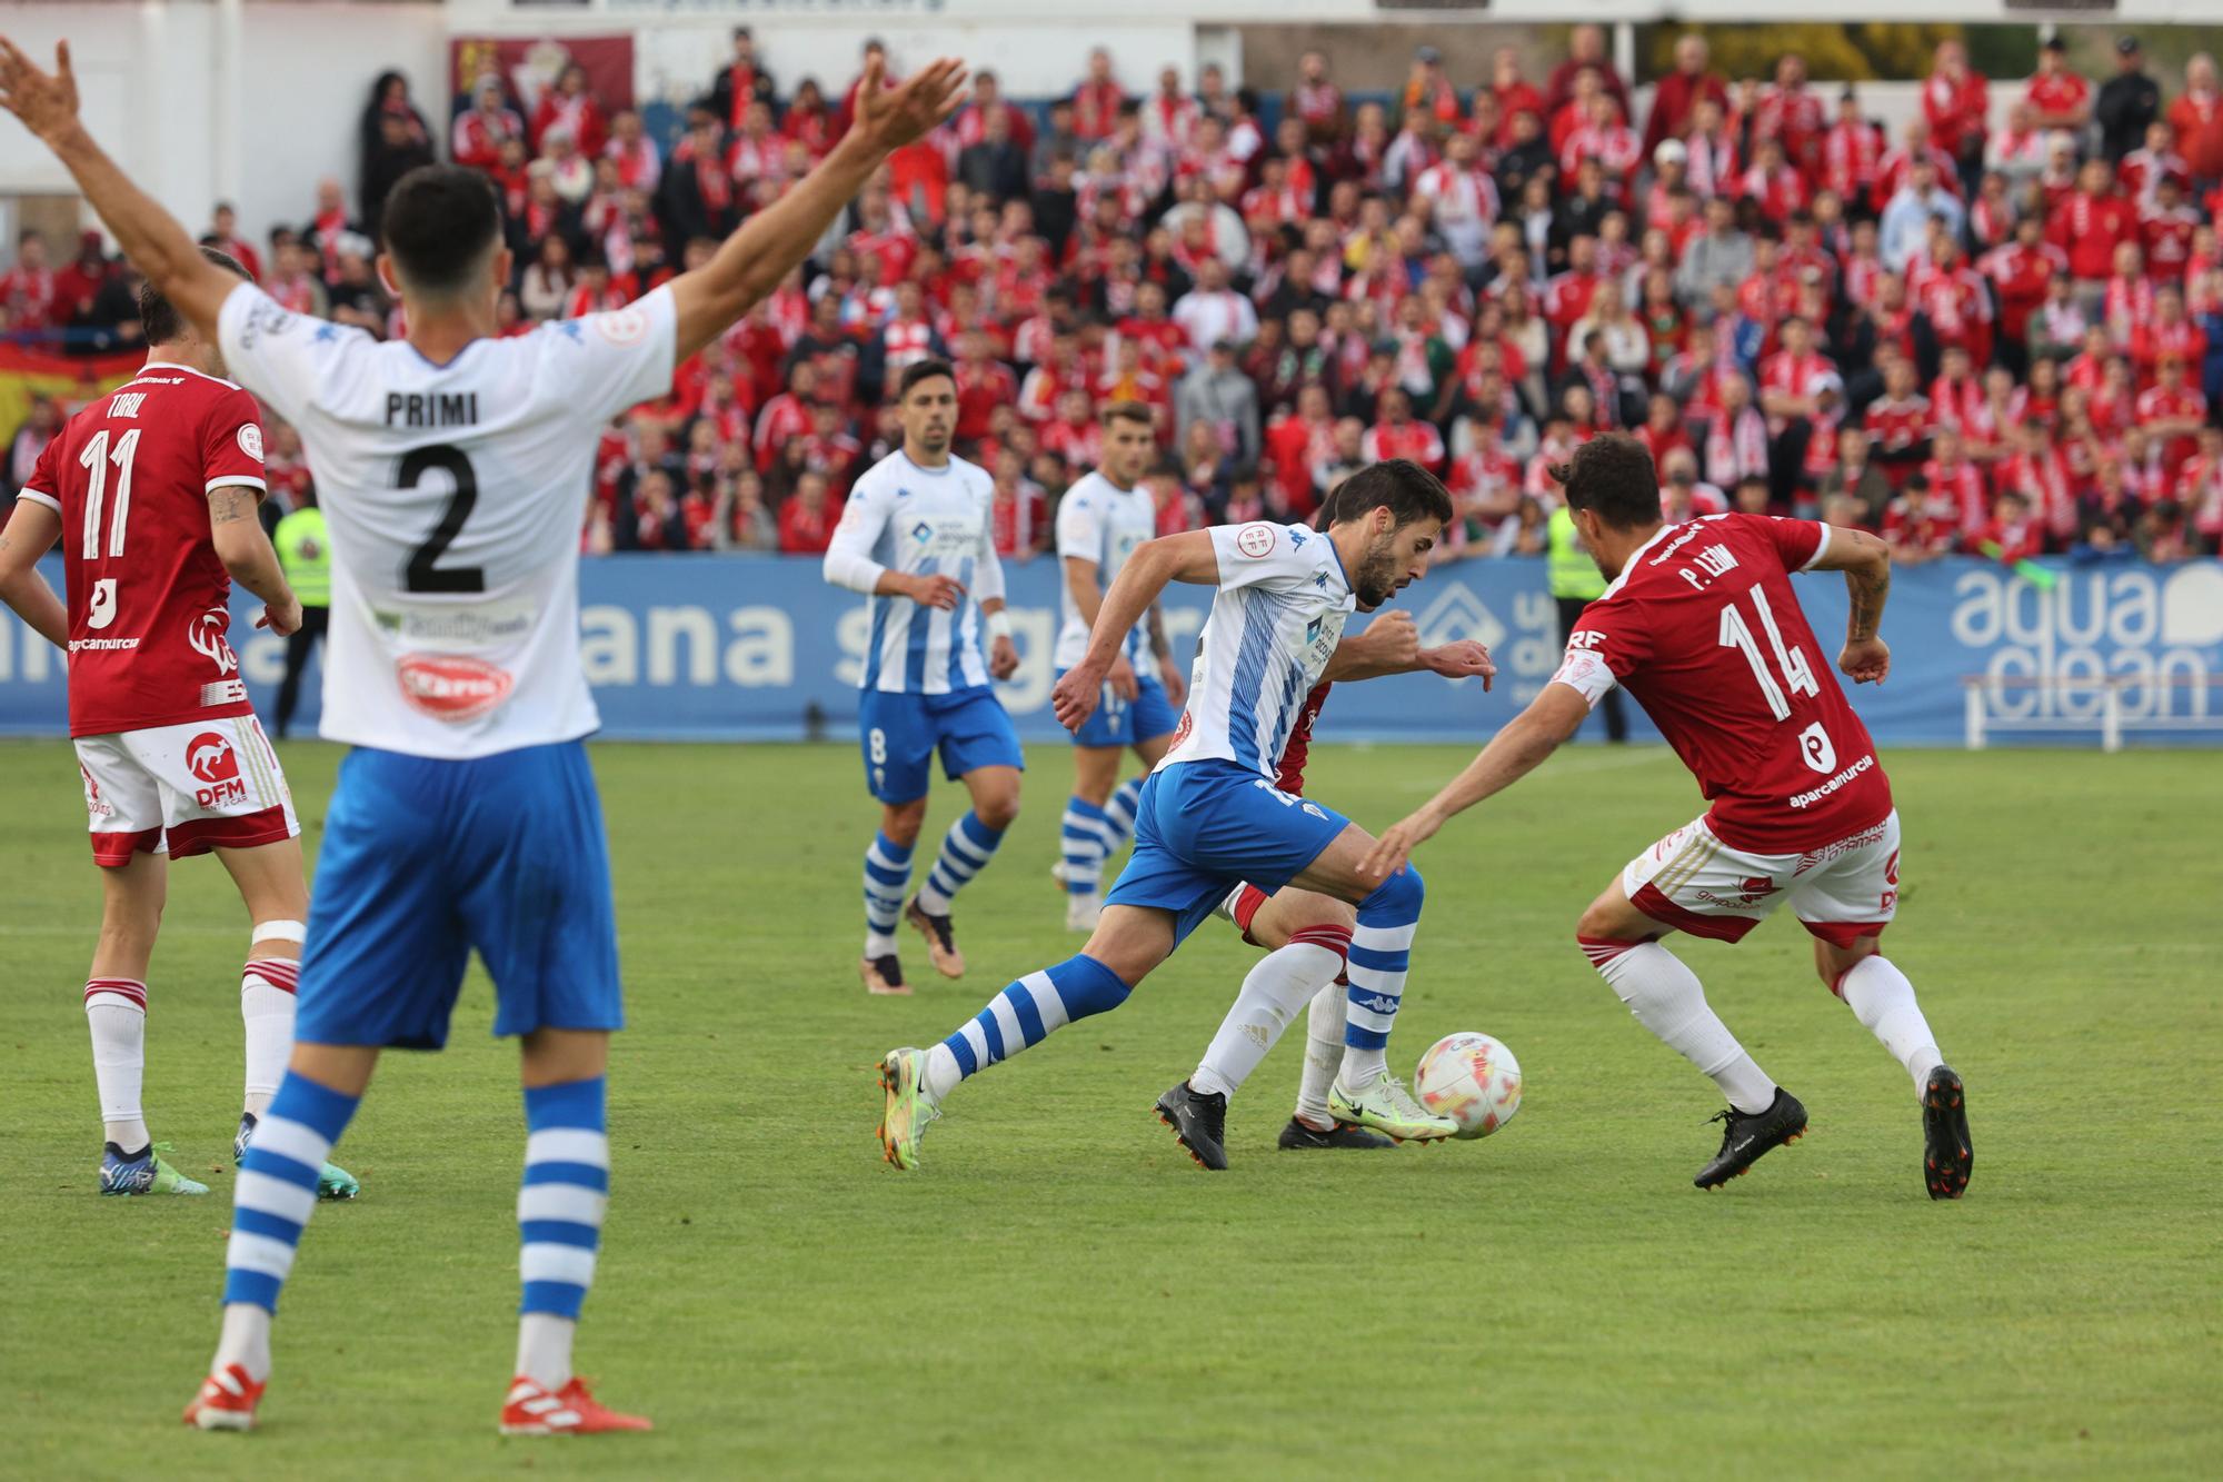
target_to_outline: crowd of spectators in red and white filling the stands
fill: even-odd
[[[1947,40],[1898,138],[1796,53],[1725,78],[1696,36],[1636,109],[1596,27],[1547,69],[1501,49],[1472,87],[1423,47],[1385,100],[1312,51],[1274,109],[1216,67],[1132,89],[1105,51],[1043,109],[980,73],[807,269],[609,427],[582,541],[820,552],[894,447],[885,389],[940,356],[1014,559],[1051,543],[1116,401],[1156,414],[1163,532],[1307,518],[1409,456],[1458,501],[1445,559],[1529,554],[1547,465],[1627,429],[1669,518],[1818,514],[1903,561],[2214,554],[2223,93],[2205,56],[2174,98],[2136,40],[2114,65],[2094,87],[2047,42],[1994,129],[1992,80]],[[440,127],[389,73],[353,209],[333,178],[267,256],[225,209],[207,240],[298,312],[398,334],[378,200],[445,151],[502,198],[522,334],[698,260],[843,136],[854,93],[778,87],[738,29],[665,149],[578,67],[531,109],[489,73]],[[96,236],[64,269],[27,236],[0,312],[91,325],[129,314],[124,283]],[[271,447],[298,467],[298,438]]]

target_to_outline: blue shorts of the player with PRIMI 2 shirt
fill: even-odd
[[[625,1026],[609,846],[587,745],[340,763],[293,1037],[438,1050],[478,948],[494,1033]]]

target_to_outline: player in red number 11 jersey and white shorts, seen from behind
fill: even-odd
[[[247,276],[220,251],[205,256]],[[100,1193],[200,1195],[207,1186],[162,1162],[147,1130],[147,964],[167,861],[213,850],[253,923],[238,1159],[293,1048],[309,890],[285,772],[225,641],[231,581],[267,603],[258,628],[280,636],[300,628],[300,603],[256,521],[256,398],[222,381],[218,347],[160,294],[140,289],[138,307],[147,365],[47,443],[0,534],[0,599],[69,654],[69,734],[104,890],[84,981],[107,1124]],[[58,539],[67,605],[36,565]],[[356,1182],[327,1164],[318,1193],[353,1197]]]

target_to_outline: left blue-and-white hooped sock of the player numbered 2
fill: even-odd
[[[240,1364],[262,1380],[271,1369],[271,1315],[293,1271],[302,1226],[316,1211],[316,1177],[340,1142],[360,1097],[287,1070],[256,1122],[231,1190],[231,1244],[225,1251],[225,1333],[213,1371]]]

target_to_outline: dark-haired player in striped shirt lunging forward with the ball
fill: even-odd
[[[1129,632],[1167,581],[1216,585],[1205,619],[1189,708],[1174,750],[1143,783],[1134,859],[1105,901],[1087,946],[1029,972],[974,1019],[927,1050],[880,1059],[887,1093],[880,1148],[898,1168],[918,1166],[918,1142],[947,1095],[976,1070],[1040,1044],[1051,1030],[1118,1008],[1183,937],[1249,881],[1272,895],[1296,883],[1358,908],[1352,932],[1354,992],[1392,1012],[1405,992],[1420,923],[1420,877],[1409,868],[1365,877],[1369,834],[1314,799],[1276,788],[1276,770],[1305,694],[1343,641],[1354,607],[1378,607],[1427,572],[1452,496],[1403,458],[1352,474],[1325,532],[1303,525],[1227,525],[1147,541],[1105,594],[1089,648],[1051,690],[1067,730],[1080,730]],[[1309,992],[1305,995],[1309,997]],[[1305,997],[1287,1006],[1303,1008]],[[1349,1122],[1392,1137],[1449,1137],[1389,1075],[1380,1050],[1345,1053]],[[1227,1097],[1183,1084],[1158,1099],[1183,1146],[1225,1168]]]

